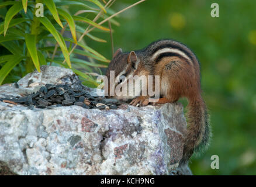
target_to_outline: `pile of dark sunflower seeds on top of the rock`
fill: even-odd
[[[117,99],[106,99],[102,96],[92,96],[83,88],[71,88],[68,84],[46,84],[36,93],[15,98],[0,98],[0,101],[21,104],[29,109],[51,109],[58,106],[77,105],[85,109],[117,109],[120,105]]]

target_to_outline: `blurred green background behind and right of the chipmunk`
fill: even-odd
[[[116,1],[115,11],[136,1]],[[210,5],[219,4],[219,18]],[[203,97],[210,110],[209,150],[193,157],[195,175],[256,174],[256,1],[147,0],[122,13],[114,29],[115,50],[139,50],[151,41],[174,39],[189,46],[201,63]],[[97,36],[105,37],[106,33]],[[93,46],[112,57],[110,40]],[[210,168],[211,155],[219,169]]]

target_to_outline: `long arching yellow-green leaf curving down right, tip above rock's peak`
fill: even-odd
[[[53,37],[56,39],[58,44],[60,45],[61,51],[63,52],[63,56],[65,57],[65,60],[67,61],[68,67],[71,68],[71,62],[70,62],[70,56],[68,55],[68,49],[65,44],[65,41],[60,33],[57,32],[55,27],[51,24],[50,20],[46,17],[39,18],[40,22],[49,30],[51,34],[53,34]]]

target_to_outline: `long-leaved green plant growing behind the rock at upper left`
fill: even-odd
[[[44,5],[43,17],[36,16],[36,12],[41,13],[37,3]],[[67,68],[72,66],[85,84],[89,82],[89,86],[97,86],[89,73],[100,73],[99,68],[107,67],[109,60],[89,47],[81,36],[88,26],[105,34],[109,29],[92,20],[92,13],[101,13],[99,20],[103,20],[115,12],[105,9],[98,0],[0,2],[0,85],[18,81],[34,68],[40,71],[40,65],[53,64]],[[91,33],[85,33],[86,36],[94,42],[106,42]],[[81,40],[78,41],[78,37]],[[79,49],[72,49],[75,46]],[[84,56],[85,60],[77,55]]]

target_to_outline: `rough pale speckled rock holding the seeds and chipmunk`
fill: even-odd
[[[39,87],[79,81],[71,70],[41,68],[43,73],[20,79],[19,88],[0,86],[0,97],[33,91],[27,87],[32,78]],[[185,129],[179,103],[143,108],[123,104],[117,110],[30,110],[0,102],[0,174],[189,175],[187,166],[177,168]]]

